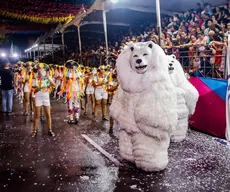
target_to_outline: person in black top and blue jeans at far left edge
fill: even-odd
[[[13,107],[13,79],[14,75],[9,64],[4,65],[4,69],[0,72],[1,90],[2,90],[2,113],[3,115],[12,115]]]

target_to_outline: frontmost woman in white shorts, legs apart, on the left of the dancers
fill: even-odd
[[[33,126],[33,133],[32,137],[37,135],[38,129],[38,120],[40,117],[41,108],[44,107],[46,119],[48,123],[48,134],[50,136],[54,136],[52,131],[52,121],[51,121],[51,113],[50,113],[50,93],[49,88],[50,86],[55,87],[55,83],[49,77],[48,74],[48,66],[45,66],[46,70],[43,67],[39,67],[38,76],[35,79],[36,83],[36,90],[35,90],[35,114],[34,114],[34,126]]]

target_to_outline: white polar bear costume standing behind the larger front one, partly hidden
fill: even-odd
[[[171,141],[180,142],[185,139],[188,130],[188,118],[195,112],[199,93],[187,80],[180,62],[175,55],[168,57],[169,74],[177,93],[178,124],[172,133]]]

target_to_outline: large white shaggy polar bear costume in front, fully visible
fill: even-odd
[[[167,63],[163,50],[151,41],[129,44],[117,59],[120,87],[110,115],[120,126],[121,156],[145,171],[166,168],[177,125],[177,97]]]

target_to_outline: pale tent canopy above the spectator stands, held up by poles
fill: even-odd
[[[226,0],[160,0],[160,10],[161,14],[174,15],[178,12],[184,12],[189,9],[196,9],[196,3],[210,3],[213,6],[223,5]],[[108,25],[120,25],[128,26],[129,21],[133,18],[143,17],[145,13],[155,13],[156,12],[156,1],[155,0],[117,0],[117,3],[112,3],[111,0],[95,0],[93,5],[87,10],[87,12],[80,12],[75,16],[70,22],[65,24],[59,24],[56,29],[52,30],[50,33],[45,34],[40,37],[38,42],[42,42],[44,39],[51,37],[60,31],[63,33],[65,29],[71,25],[81,26],[87,24],[102,24],[102,16],[98,11],[106,10],[107,13],[107,24]],[[117,13],[113,13],[114,11]],[[124,11],[125,10],[125,11]],[[132,14],[128,13],[130,11],[135,11]],[[122,13],[123,11],[123,13]],[[111,16],[110,16],[111,15]],[[123,19],[122,19],[123,17]]]

